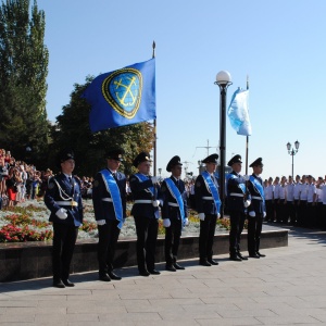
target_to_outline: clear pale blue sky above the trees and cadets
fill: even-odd
[[[220,153],[220,71],[233,85],[249,76],[249,164],[263,158],[263,178],[290,175],[287,142],[300,142],[294,175],[324,176],[326,139],[325,0],[38,0],[50,52],[47,113],[52,122],[86,76],[151,59],[156,43],[158,162],[179,155],[188,172]],[[209,143],[210,149],[206,149]],[[246,137],[226,121],[226,162],[242,156]],[[251,173],[251,168],[249,168]]]

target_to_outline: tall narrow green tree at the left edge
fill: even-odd
[[[30,9],[30,11],[29,11]],[[48,153],[46,92],[49,52],[45,12],[37,2],[7,0],[0,7],[0,143],[16,159],[41,164]],[[41,164],[43,165],[43,164]]]

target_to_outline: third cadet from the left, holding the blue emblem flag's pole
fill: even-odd
[[[139,275],[159,275],[155,269],[155,247],[160,217],[159,205],[163,204],[162,195],[155,176],[149,176],[151,167],[150,155],[141,152],[133,165],[138,173],[129,178],[134,198],[131,215],[135,217],[137,233],[137,263]]]

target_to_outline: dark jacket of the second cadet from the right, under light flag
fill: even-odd
[[[236,177],[233,177],[236,176]],[[240,211],[244,213],[244,195],[240,185],[246,186],[244,178],[233,171],[227,177],[227,209],[229,211]]]

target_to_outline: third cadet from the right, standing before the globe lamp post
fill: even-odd
[[[200,218],[199,264],[203,266],[218,265],[213,260],[214,234],[221,208],[218,185],[214,176],[217,159],[217,154],[212,154],[202,161],[206,171],[197,177],[195,186],[196,206]]]

